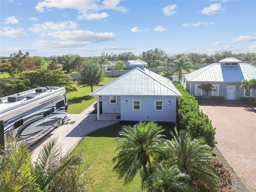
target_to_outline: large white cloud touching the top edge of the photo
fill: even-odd
[[[78,11],[78,19],[103,19],[108,17],[106,12],[98,13],[100,10],[115,10],[121,13],[127,13],[128,10],[123,6],[118,6],[120,0],[104,0],[103,2],[98,0],[44,0],[38,2],[35,9],[38,12],[44,12],[50,8],[58,9],[74,9]]]

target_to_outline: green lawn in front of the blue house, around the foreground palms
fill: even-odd
[[[170,130],[174,124],[164,124],[164,135],[170,138]],[[86,136],[75,148],[73,153],[82,152],[84,165],[90,165],[88,176],[92,180],[90,192],[142,192],[139,174],[134,180],[124,186],[123,180],[118,180],[118,175],[112,171],[114,167],[112,158],[117,155],[116,137],[122,124],[114,124],[107,128],[97,130]]]

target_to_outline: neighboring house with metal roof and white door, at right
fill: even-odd
[[[236,58],[226,58],[219,63],[210,64],[204,68],[184,76],[186,88],[193,96],[204,96],[206,93],[198,86],[212,84],[215,90],[209,96],[223,96],[227,100],[239,100],[241,97],[255,97],[256,90],[246,92],[240,89],[241,81],[256,79],[256,66],[243,63]]]

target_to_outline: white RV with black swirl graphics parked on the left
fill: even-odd
[[[0,144],[4,135],[32,145],[68,118],[64,87],[38,87],[0,98]]]

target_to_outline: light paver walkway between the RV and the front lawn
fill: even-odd
[[[58,144],[61,146],[62,155],[73,150],[78,142],[89,133],[100,128],[118,123],[118,121],[97,121],[97,114],[91,112],[94,108],[91,105],[80,114],[68,114],[69,121],[52,132],[46,134],[43,138],[35,142],[31,147],[32,161],[35,161],[43,144],[46,144],[52,138],[58,138]]]

